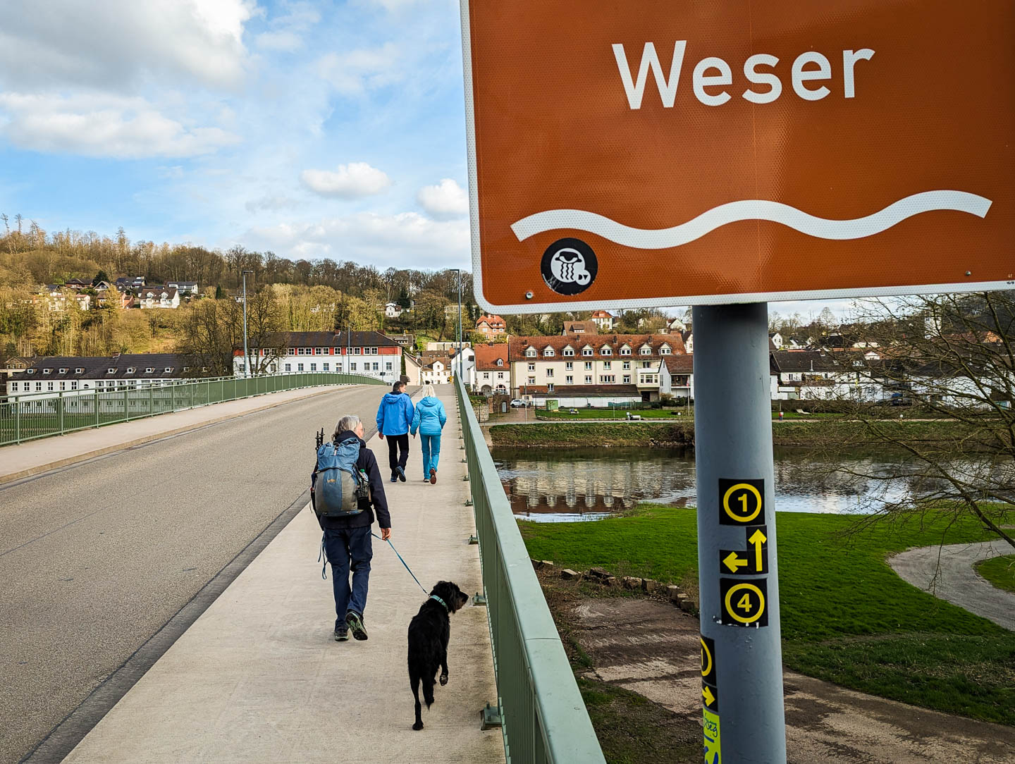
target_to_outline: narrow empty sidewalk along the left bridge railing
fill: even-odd
[[[349,386],[327,385],[267,393],[239,401],[215,403],[172,414],[158,414],[130,422],[78,430],[67,435],[53,435],[4,445],[0,447],[0,483],[20,480],[58,467],[66,467],[86,459],[203,427],[206,424],[324,395],[340,387]],[[378,390],[383,388],[379,386]]]

